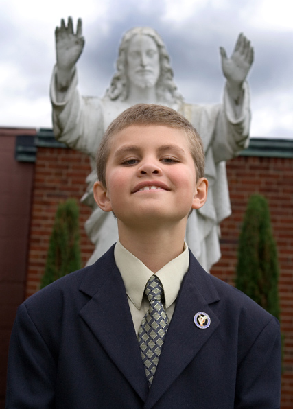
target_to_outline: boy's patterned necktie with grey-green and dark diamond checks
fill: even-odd
[[[160,279],[152,275],[145,287],[145,295],[150,302],[150,309],[141,321],[137,336],[149,388],[154,379],[161,348],[169,326],[169,320],[161,301],[162,293],[163,287]]]

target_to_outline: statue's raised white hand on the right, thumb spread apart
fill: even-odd
[[[253,47],[251,47],[250,41],[241,33],[231,58],[227,58],[223,47],[220,47],[220,53],[222,57],[222,70],[228,84],[241,86],[253,64]]]

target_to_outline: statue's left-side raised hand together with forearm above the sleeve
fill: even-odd
[[[59,99],[66,93],[73,74],[75,64],[78,62],[84,48],[84,37],[82,36],[82,20],[78,19],[76,33],[73,31],[73,22],[68,18],[67,26],[64,19],[61,20],[60,27],[56,27],[56,89]],[[61,101],[60,101],[61,102]]]

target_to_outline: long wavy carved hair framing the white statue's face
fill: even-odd
[[[169,63],[169,55],[165,44],[159,34],[150,27],[135,27],[128,30],[122,37],[119,47],[119,56],[116,62],[117,72],[113,75],[109,89],[105,96],[110,100],[124,101],[128,97],[128,78],[126,75],[127,62],[126,51],[133,36],[143,34],[154,40],[159,50],[160,76],[156,82],[156,95],[158,100],[165,103],[180,104],[183,97],[178,92],[177,86],[173,80],[173,71]]]

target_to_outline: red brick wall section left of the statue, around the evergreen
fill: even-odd
[[[93,253],[93,244],[83,228],[91,211],[89,207],[80,203],[86,185],[85,179],[89,172],[87,156],[77,151],[62,148],[38,148],[26,296],[34,294],[39,289],[55,213],[58,204],[67,198],[76,198],[80,204],[80,246],[83,264]]]

